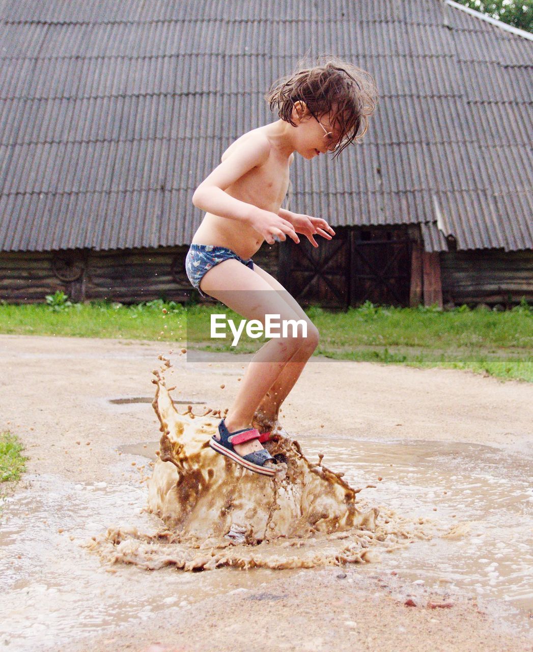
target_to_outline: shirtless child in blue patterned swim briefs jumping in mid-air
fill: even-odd
[[[273,476],[275,460],[261,445],[270,432],[253,428],[257,414],[274,424],[281,404],[317,347],[319,333],[304,310],[252,256],[263,241],[300,242],[298,233],[319,246],[335,231],[326,220],[281,208],[289,186],[294,153],[311,160],[339,153],[367,130],[375,108],[371,76],[350,63],[328,57],[314,67],[300,67],[274,84],[267,95],[280,119],[240,136],[223,153],[221,164],[197,188],[193,203],[206,211],[186,258],[192,285],[245,319],[279,315],[304,319],[303,329],[263,345],[250,362],[237,397],[218,434],[216,452],[250,471]]]

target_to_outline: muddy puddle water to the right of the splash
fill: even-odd
[[[158,441],[122,447],[156,459]],[[502,599],[533,610],[533,457],[463,443],[306,437],[308,457],[343,469],[360,496],[437,522],[444,537],[381,555],[380,569],[427,587]],[[370,568],[370,570],[368,570]],[[360,572],[375,572],[360,567]]]

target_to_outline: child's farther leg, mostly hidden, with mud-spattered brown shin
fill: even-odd
[[[272,424],[274,424],[276,419],[278,419],[278,411],[280,406],[285,398],[287,398],[291,389],[293,389],[296,381],[304,369],[304,366],[306,366],[309,357],[315,350],[318,344],[319,334],[315,325],[308,318],[300,304],[298,304],[296,299],[285,288],[283,288],[281,283],[278,282],[274,276],[268,274],[268,272],[266,272],[255,263],[253,263],[253,271],[259,274],[261,278],[264,278],[270,287],[280,291],[280,296],[289,305],[289,307],[294,310],[296,314],[298,314],[298,319],[306,319],[308,322],[308,335],[311,334],[310,339],[314,340],[315,342],[315,346],[312,348],[312,350],[310,350],[311,347],[306,349],[306,351],[309,353],[308,357],[302,355],[302,353],[304,353],[304,351],[302,351],[297,359],[295,356],[293,356],[291,359],[289,359],[289,361],[287,361],[287,364],[285,365],[285,368],[283,368],[280,376],[276,378],[274,384],[268,389],[268,393],[261,401],[261,404],[259,404],[259,408],[257,408],[257,417],[259,418],[259,421],[264,422],[265,428],[268,429],[272,426]]]

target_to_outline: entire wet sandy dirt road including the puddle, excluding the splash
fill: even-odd
[[[91,536],[158,526],[141,479],[159,434],[151,370],[167,351],[0,336],[0,428],[31,456],[0,522],[0,649],[531,649],[526,383],[312,359],[289,398],[283,424],[311,460],[374,485],[368,501],[457,523],[455,536],[345,568],[102,566]],[[175,400],[225,408],[247,357],[172,359]]]

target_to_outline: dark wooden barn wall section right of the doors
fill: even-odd
[[[475,250],[440,254],[444,303],[533,301],[533,251]]]

